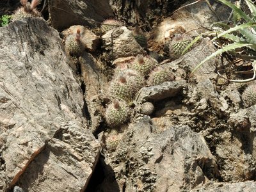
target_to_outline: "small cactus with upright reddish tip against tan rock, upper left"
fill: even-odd
[[[70,56],[80,56],[84,51],[83,44],[80,40],[81,31],[77,29],[76,34],[69,35],[65,41],[65,52]]]

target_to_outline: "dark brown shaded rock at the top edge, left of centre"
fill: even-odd
[[[113,17],[108,0],[49,0],[48,4],[49,22],[59,31],[74,25],[97,26],[97,22]]]

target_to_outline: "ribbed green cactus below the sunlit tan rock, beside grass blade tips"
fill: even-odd
[[[175,41],[171,42],[169,46],[169,51],[170,51],[170,57],[173,60],[177,60],[180,56],[182,56],[182,52],[188,44],[190,44],[191,40],[180,40],[180,41]]]

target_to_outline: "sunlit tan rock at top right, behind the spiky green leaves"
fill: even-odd
[[[194,2],[195,1],[188,1],[187,3],[180,5],[180,7]],[[212,3],[212,8],[218,15],[215,15],[215,13],[212,12],[205,1],[200,1],[181,8],[173,13],[171,17],[166,17],[157,28],[152,30],[154,41],[163,43],[166,39],[172,38],[177,33],[183,34],[189,32],[188,34],[190,35],[198,35],[198,33],[200,34],[205,31],[204,28],[200,28],[201,26],[209,28],[213,22],[218,21],[218,17],[221,17],[221,20],[228,19],[229,12],[225,6],[214,1],[214,3]],[[193,14],[193,17],[191,17],[191,14]]]

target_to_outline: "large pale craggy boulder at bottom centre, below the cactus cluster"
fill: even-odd
[[[134,120],[106,157],[123,191],[184,191],[220,177],[218,166],[202,135],[169,118]],[[104,183],[108,188],[112,181]]]

